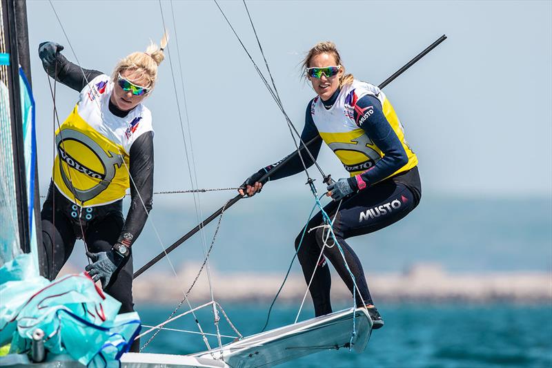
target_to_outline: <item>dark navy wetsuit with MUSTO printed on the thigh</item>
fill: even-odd
[[[340,90],[338,89],[328,101],[323,101],[326,109],[333,106],[339,92]],[[319,137],[311,115],[312,104],[313,101],[307,106],[306,122],[301,135],[305,143],[311,141],[314,137]],[[362,179],[368,183],[367,188],[345,197],[339,206],[339,211],[337,211],[339,202],[335,201],[327,204],[324,207],[324,211],[328,213],[332,220],[336,216],[337,211],[337,217],[335,217],[335,222],[333,223],[333,232],[339,246],[341,246],[344,252],[346,263],[351,273],[353,273],[355,283],[360,291],[360,294],[358,291],[356,292],[357,306],[362,307],[364,304],[373,304],[373,300],[368,291],[368,284],[364,276],[362,264],[345,240],[352,236],[372,233],[401,220],[420,203],[422,186],[417,166],[409,171],[388,177],[404,165],[406,153],[404,153],[404,149],[397,136],[389,127],[389,123],[382,112],[381,103],[377,98],[370,95],[362,97],[357,101],[357,105],[361,106],[361,108],[365,106],[373,107],[369,114],[366,113],[365,117],[357,116],[357,110],[355,110],[355,121],[362,121],[359,127],[366,131],[373,142],[382,149],[385,156],[371,170],[362,173]],[[377,137],[382,137],[382,139],[377,139]],[[321,145],[322,138],[315,139],[308,146],[314,159],[317,158]],[[313,165],[313,159],[306,153],[302,154],[302,158],[307,167]],[[271,168],[277,166],[282,161],[283,159],[276,164],[266,166],[264,171],[269,172]],[[303,170],[304,166],[301,159],[295,156],[285,167],[279,169],[274,175],[270,175],[270,180],[294,175]],[[388,178],[385,179],[386,177]],[[353,181],[353,184],[355,183]],[[327,227],[317,227],[322,225],[324,225],[324,220],[322,213],[319,212],[306,225],[307,232],[304,235],[302,243],[300,241],[304,232],[303,230],[299,232],[299,235],[295,239],[297,258],[299,258],[299,262],[301,263],[307,284],[311,281],[311,277],[316,270],[311,288],[309,289],[313,298],[316,316],[323,316],[332,312],[330,301],[331,275],[324,256],[333,264],[348,289],[351,292],[354,289],[353,280],[346,268],[343,257],[338,247],[334,245],[333,238],[331,236],[328,237]],[[309,229],[316,227],[317,229],[310,233],[308,232]],[[319,259],[324,242],[328,246],[324,247],[324,256],[322,256],[317,267],[317,260]]]

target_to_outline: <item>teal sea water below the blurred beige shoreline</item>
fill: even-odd
[[[346,307],[346,306],[342,306]],[[552,367],[552,305],[509,304],[382,304],[382,329],[373,331],[362,354],[347,349],[324,351],[278,367]],[[223,305],[228,317],[244,336],[264,326],[268,305]],[[142,323],[155,325],[172,312],[170,307],[139,307]],[[185,311],[183,309],[181,311]],[[276,307],[268,329],[293,323],[296,307]],[[201,327],[213,333],[213,313],[197,313]],[[302,318],[313,316],[305,309]],[[222,334],[234,335],[221,318]],[[184,316],[166,327],[198,331]],[[145,328],[144,328],[145,329]],[[141,345],[148,340],[141,340]],[[223,344],[231,339],[224,339]],[[214,347],[217,342],[209,338]],[[201,336],[161,331],[144,352],[192,354],[206,350]]]

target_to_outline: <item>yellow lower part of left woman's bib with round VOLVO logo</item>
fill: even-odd
[[[128,155],[73,110],[56,132],[53,177],[59,191],[81,206],[108,204],[124,197],[129,185]]]

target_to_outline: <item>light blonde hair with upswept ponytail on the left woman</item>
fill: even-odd
[[[155,80],[157,79],[157,66],[161,64],[161,61],[165,59],[164,49],[167,46],[168,34],[165,31],[159,46],[150,42],[150,46],[146,48],[146,52],[132,52],[132,54],[119,60],[115,70],[113,70],[112,79],[117,80],[117,77],[121,72],[130,70],[131,74],[128,77],[132,80],[143,79],[148,80],[147,87],[151,90],[155,86]]]

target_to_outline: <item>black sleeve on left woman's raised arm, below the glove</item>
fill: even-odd
[[[44,70],[55,80],[65,84],[69,88],[81,92],[81,90],[98,75],[103,74],[98,70],[85,69],[72,62],[58,52],[55,62],[48,68],[43,65]]]

